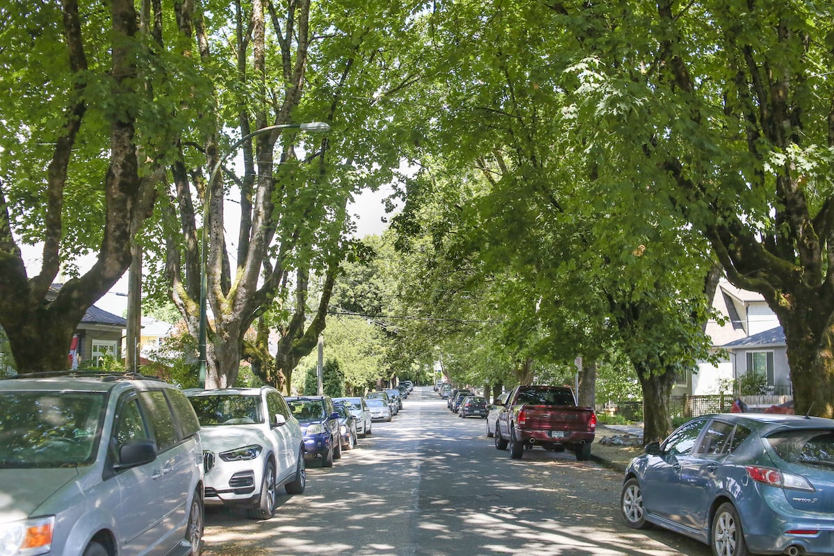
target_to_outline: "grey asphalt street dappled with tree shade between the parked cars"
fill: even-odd
[[[209,508],[203,554],[710,554],[674,533],[625,527],[620,473],[540,448],[513,460],[483,419],[453,415],[430,387],[373,432],[333,468],[308,462],[306,491],[279,498],[269,521]]]

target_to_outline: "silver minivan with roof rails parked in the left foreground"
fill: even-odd
[[[161,380],[0,380],[0,553],[198,554],[200,425]]]

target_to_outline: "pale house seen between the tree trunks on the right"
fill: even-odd
[[[719,354],[720,362],[699,363],[697,372],[686,373],[672,394],[726,393],[731,391],[732,382],[750,369],[766,376],[772,393],[790,394],[785,334],[761,294],[736,288],[722,279],[712,304],[721,318],[707,323],[706,333],[712,338],[712,353]]]

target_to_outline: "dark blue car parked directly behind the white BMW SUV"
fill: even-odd
[[[287,398],[304,433],[304,450],[321,458],[322,467],[333,467],[333,460],[342,457],[339,440],[339,413],[329,396],[296,396]]]

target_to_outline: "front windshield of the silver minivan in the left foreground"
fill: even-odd
[[[0,394],[0,468],[90,465],[105,403],[99,392]]]

